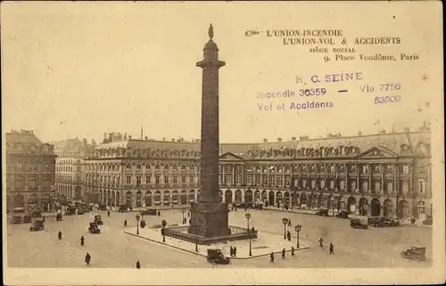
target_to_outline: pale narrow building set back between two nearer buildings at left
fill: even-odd
[[[78,138],[52,142],[58,156],[55,167],[58,200],[84,200],[84,157],[93,144]]]

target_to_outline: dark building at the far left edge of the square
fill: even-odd
[[[6,209],[26,213],[54,211],[54,146],[33,131],[6,133]]]

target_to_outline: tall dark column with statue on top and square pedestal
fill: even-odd
[[[201,186],[197,203],[192,204],[191,226],[188,233],[202,237],[219,237],[230,233],[227,227],[227,203],[219,202],[219,48],[212,40],[204,45],[203,60],[196,65],[202,68],[202,141]]]

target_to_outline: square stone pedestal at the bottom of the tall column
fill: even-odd
[[[226,202],[193,202],[191,205],[191,226],[187,233],[204,238],[230,235],[228,213],[229,208]]]

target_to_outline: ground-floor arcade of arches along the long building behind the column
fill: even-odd
[[[93,190],[92,190],[93,191]],[[90,201],[111,206],[126,204],[132,208],[186,205],[199,199],[199,189],[183,190],[116,190],[99,189],[88,192]],[[432,216],[432,202],[424,198],[389,195],[361,195],[359,193],[330,193],[309,191],[219,190],[219,198],[228,203],[264,204],[266,206],[305,209],[326,208],[368,217],[416,217],[424,220]]]

